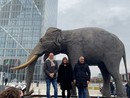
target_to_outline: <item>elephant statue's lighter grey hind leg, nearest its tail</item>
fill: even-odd
[[[111,57],[111,60],[109,60],[109,61],[107,60],[105,62],[105,65],[107,67],[108,72],[112,75],[112,77],[115,81],[117,97],[118,98],[127,98],[126,90],[124,89],[125,87],[123,87],[123,85],[122,85],[122,81],[121,81],[120,74],[119,74],[120,60],[118,60],[118,61],[114,60],[115,57],[114,58],[113,57]]]

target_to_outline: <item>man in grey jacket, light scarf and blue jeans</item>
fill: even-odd
[[[52,83],[54,88],[54,98],[57,98],[57,72],[58,72],[58,63],[54,60],[54,54],[50,53],[48,60],[44,62],[44,72],[46,77],[46,94],[47,98],[50,97],[50,84]]]

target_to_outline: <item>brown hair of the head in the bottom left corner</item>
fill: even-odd
[[[0,98],[20,98],[20,90],[15,87],[9,87],[0,93]]]

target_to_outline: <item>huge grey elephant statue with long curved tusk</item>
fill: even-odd
[[[34,66],[37,59],[44,54],[63,53],[68,55],[74,68],[80,56],[87,58],[87,63],[98,66],[103,76],[103,96],[110,97],[110,76],[113,77],[117,96],[126,98],[119,74],[120,61],[123,58],[127,73],[125,47],[121,40],[108,31],[97,27],[86,27],[75,30],[60,30],[50,27],[32,50],[25,64],[12,68],[19,70],[27,67],[27,92],[33,79]],[[127,74],[126,74],[127,77]],[[128,80],[128,77],[127,77]]]

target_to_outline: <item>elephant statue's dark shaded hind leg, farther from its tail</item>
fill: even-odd
[[[103,77],[103,87],[102,87],[102,95],[105,97],[110,97],[110,74],[106,69],[105,64],[102,62],[98,65],[101,73],[102,73],[102,77]]]

